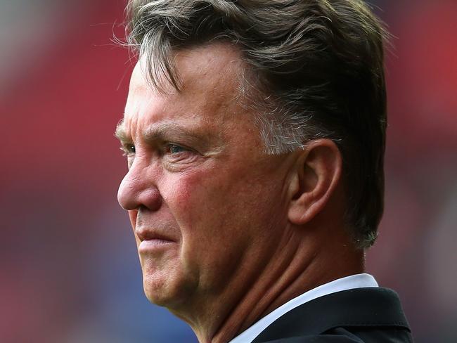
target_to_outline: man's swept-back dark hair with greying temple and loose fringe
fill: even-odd
[[[173,53],[212,41],[240,49],[245,103],[266,153],[330,138],[343,159],[346,221],[373,245],[383,211],[387,34],[361,0],[130,0],[127,43],[153,86],[179,89]]]

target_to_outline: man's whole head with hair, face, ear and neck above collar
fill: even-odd
[[[382,30],[361,1],[134,0],[129,13],[140,58],[118,198],[148,299],[194,330],[243,318],[238,332],[358,271],[385,142]]]

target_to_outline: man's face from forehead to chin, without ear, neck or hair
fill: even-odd
[[[240,57],[225,44],[176,54],[181,91],[131,77],[118,136],[129,210],[151,302],[179,308],[244,292],[285,233],[288,157],[264,153],[238,95]],[[198,302],[197,302],[198,303]]]

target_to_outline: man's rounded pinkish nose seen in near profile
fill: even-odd
[[[117,201],[123,209],[134,210],[146,207],[156,211],[162,204],[151,166],[134,162],[117,191]]]

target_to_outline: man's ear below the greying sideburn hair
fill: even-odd
[[[341,153],[333,141],[317,139],[307,144],[297,159],[289,188],[292,224],[305,224],[326,207],[341,172]]]

